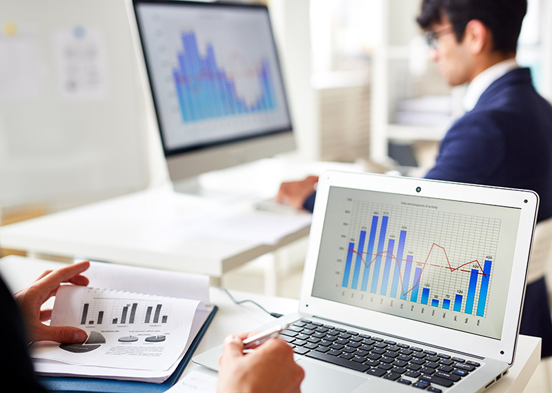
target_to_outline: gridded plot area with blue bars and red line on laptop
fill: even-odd
[[[353,201],[342,288],[486,316],[500,219]]]

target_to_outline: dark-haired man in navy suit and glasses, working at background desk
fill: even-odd
[[[469,83],[466,113],[446,133],[428,179],[536,191],[538,221],[552,217],[552,107],[515,61],[526,0],[424,0],[417,22],[450,85]],[[316,177],[282,184],[278,199],[312,210]],[[529,283],[520,332],[552,355],[544,278]]]

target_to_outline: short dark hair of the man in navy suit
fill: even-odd
[[[446,15],[456,39],[462,41],[469,21],[481,21],[493,33],[493,50],[515,52],[527,0],[424,0],[417,23],[425,30]]]

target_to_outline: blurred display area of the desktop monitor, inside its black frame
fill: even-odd
[[[258,14],[258,17],[255,17]],[[138,8],[146,65],[164,142],[192,148],[290,127],[266,14]]]

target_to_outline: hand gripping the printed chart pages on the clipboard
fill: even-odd
[[[42,321],[48,321],[52,310],[41,310],[41,305],[55,296],[61,283],[88,285],[88,279],[81,273],[88,269],[90,262],[80,262],[59,270],[44,272],[34,283],[23,288],[14,299],[25,321],[28,339],[30,341],[57,341],[58,343],[83,343],[86,332],[71,326],[48,326]]]

